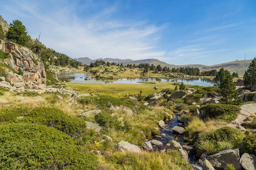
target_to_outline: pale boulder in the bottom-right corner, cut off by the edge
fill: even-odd
[[[244,170],[256,170],[256,156],[244,153],[241,156],[240,164]]]

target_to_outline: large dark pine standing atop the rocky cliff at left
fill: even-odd
[[[6,38],[23,46],[25,46],[26,42],[29,40],[26,27],[23,26],[22,22],[19,20],[14,20],[10,23]]]

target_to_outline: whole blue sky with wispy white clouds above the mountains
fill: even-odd
[[[214,65],[256,57],[255,0],[0,0],[0,15],[71,58]]]

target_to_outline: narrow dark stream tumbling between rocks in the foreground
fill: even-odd
[[[173,134],[173,132],[172,132],[172,128],[179,125],[179,123],[180,123],[178,121],[179,118],[180,118],[180,116],[175,114],[174,119],[170,120],[169,122],[166,122],[165,129],[160,129],[160,134],[164,133],[164,134],[166,134],[166,136],[160,135],[160,136],[154,136],[153,137],[153,139],[158,140],[158,141],[163,143],[162,146],[156,147],[155,148],[156,150],[166,149],[166,147],[167,147],[166,144],[170,140],[175,140],[175,141],[179,142],[181,146],[183,146],[183,145],[191,146],[192,145],[192,144],[190,145],[190,143],[184,142],[183,135],[176,135],[176,134]],[[195,149],[191,150],[188,153],[188,159],[189,159],[189,164],[191,164],[196,170],[202,170],[201,166],[195,164],[195,162],[198,160],[197,157],[196,157],[196,150]]]

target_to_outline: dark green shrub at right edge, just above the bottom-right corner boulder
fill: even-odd
[[[244,145],[242,147],[243,153],[256,155],[256,134],[247,135],[244,138]]]

